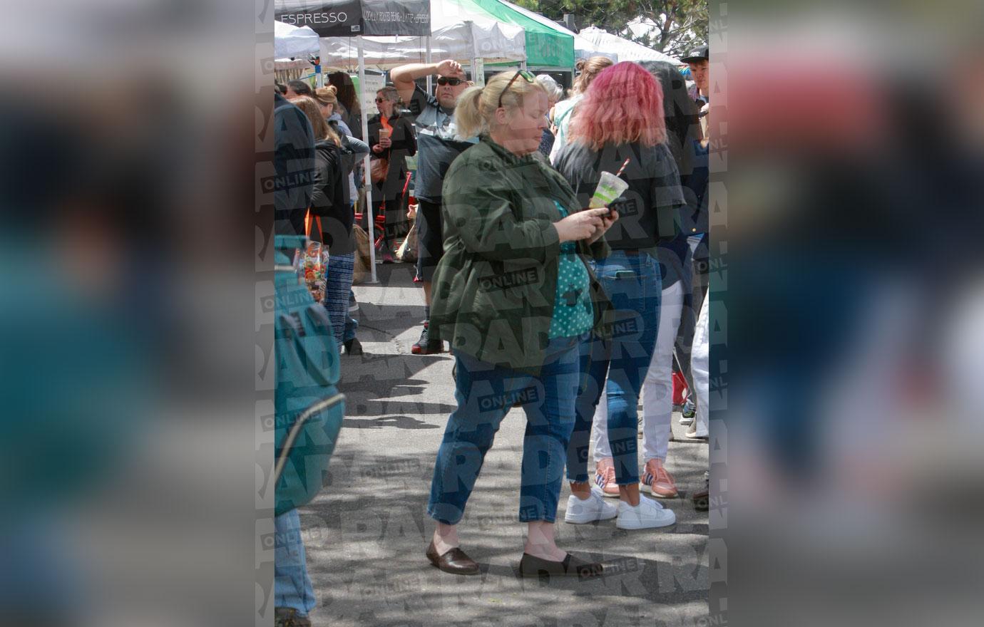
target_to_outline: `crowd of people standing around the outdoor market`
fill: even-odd
[[[474,85],[453,60],[404,65],[377,92],[364,142],[342,73],[328,87],[295,81],[277,93],[278,166],[308,159],[314,171],[309,194],[277,197],[277,232],[327,247],[324,303],[348,354],[361,352],[350,315],[358,190],[372,186],[372,215],[385,216],[383,262],[395,260],[416,199],[426,306],[412,353],[447,343],[455,359],[457,407],[427,505],[436,525],[425,555],[442,571],[480,572],[458,525],[514,406],[527,420],[523,576],[602,570],[554,540],[565,467],[566,523],[644,530],[676,520],[663,504],[679,497],[667,470],[674,371],[691,390],[681,419],[689,438],[707,438],[708,388],[707,46],[683,61],[693,85],[669,64],[592,57],[567,98],[549,75],[509,71]],[[433,93],[421,85],[428,76]],[[597,201],[603,173],[623,182],[617,199]],[[703,497],[695,504],[706,508]],[[286,567],[298,551],[283,549],[277,606],[304,624],[310,582]],[[303,546],[299,554],[303,566]]]

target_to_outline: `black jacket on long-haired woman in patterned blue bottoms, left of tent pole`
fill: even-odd
[[[352,242],[352,222],[355,215],[352,207],[345,201],[348,182],[342,175],[341,149],[335,142],[317,142],[315,160],[317,167],[311,213],[321,218],[322,242],[328,246],[330,255],[353,253],[355,247]]]

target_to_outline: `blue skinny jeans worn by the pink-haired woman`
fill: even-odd
[[[613,251],[595,261],[593,268],[612,303],[611,338],[592,336],[581,347],[584,375],[568,448],[567,475],[572,482],[587,481],[591,423],[607,377],[605,402],[615,483],[631,485],[639,482],[639,394],[656,347],[662,280],[659,263],[646,253]]]

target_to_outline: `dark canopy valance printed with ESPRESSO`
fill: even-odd
[[[430,34],[430,0],[277,0],[274,13],[322,37]]]

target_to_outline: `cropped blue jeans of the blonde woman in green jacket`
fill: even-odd
[[[485,453],[502,419],[523,402],[523,470],[520,520],[554,522],[564,479],[564,462],[574,428],[580,380],[579,337],[550,340],[539,376],[481,362],[455,352],[457,374],[452,412],[434,465],[427,513],[457,525],[478,479]]]

